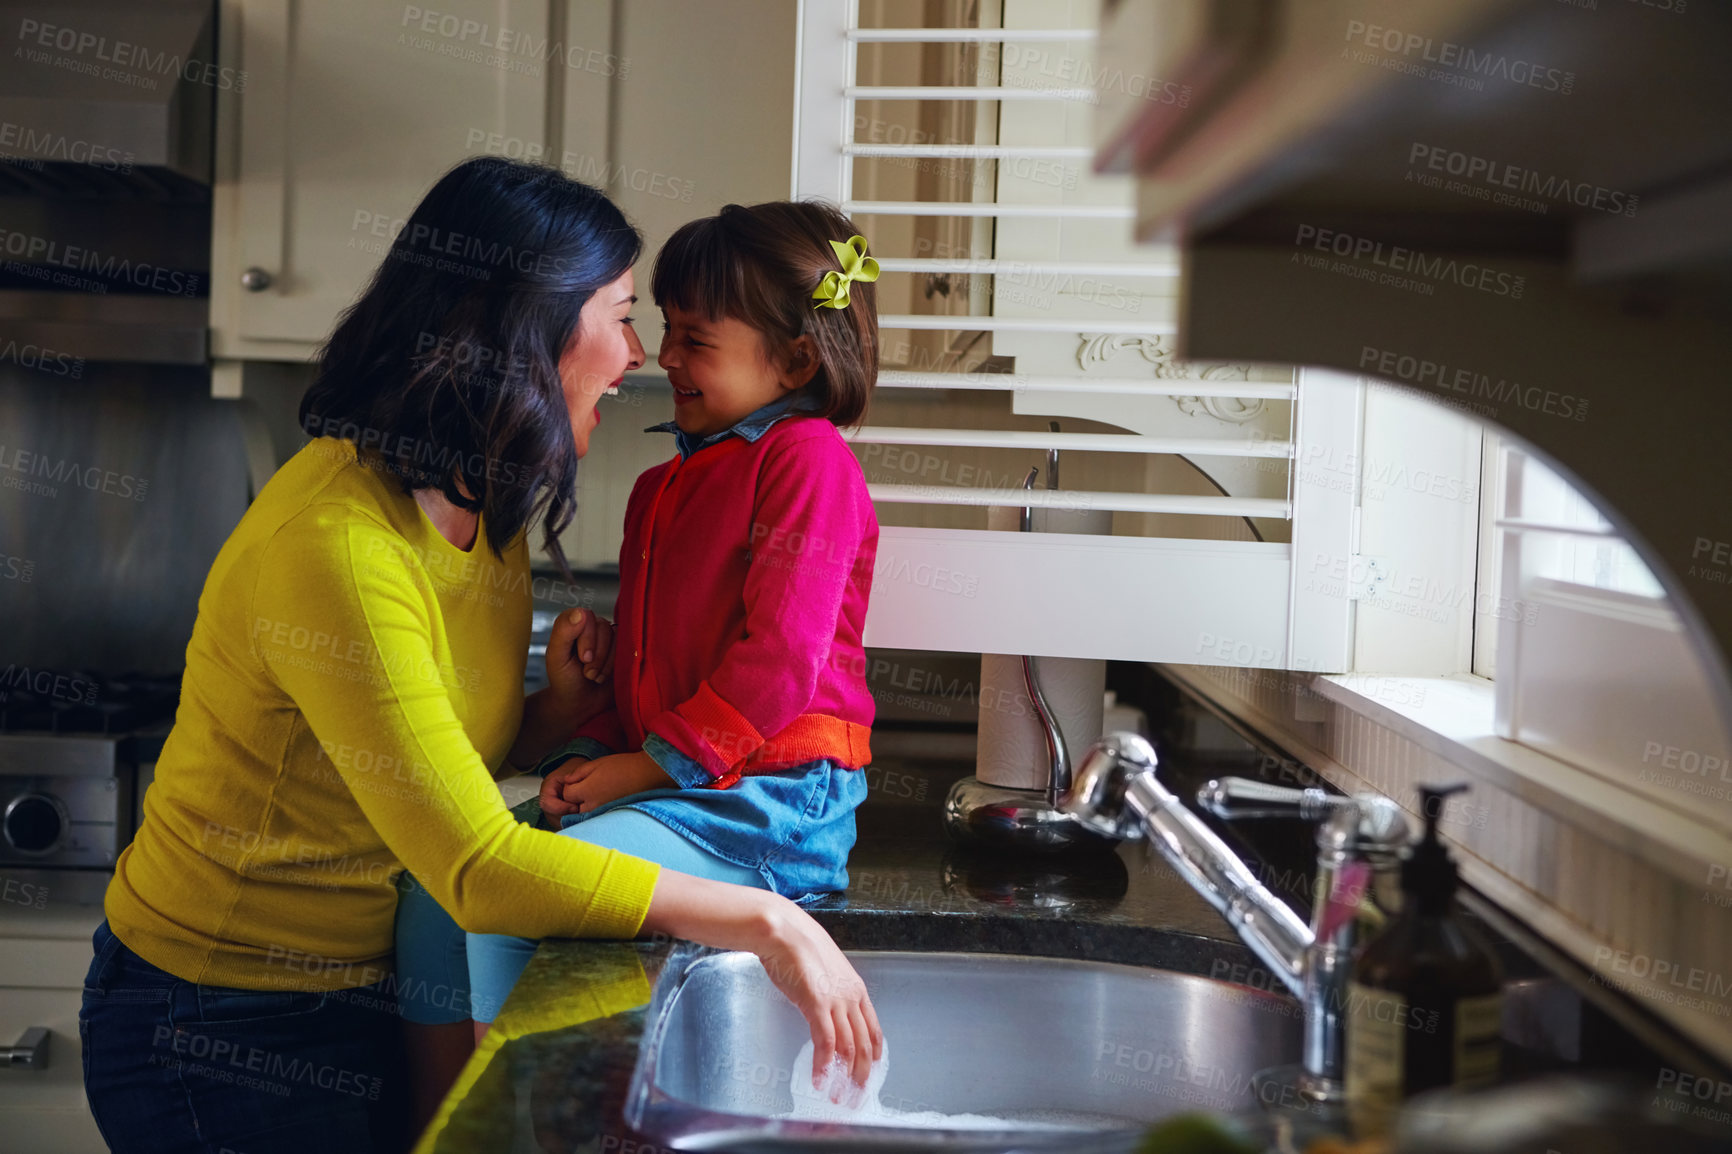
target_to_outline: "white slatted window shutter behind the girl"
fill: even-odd
[[[1091,170],[1095,23],[800,0],[792,191],[883,267],[850,433],[883,522],[866,641],[1344,671],[1360,383],[1174,359],[1178,253],[1134,244],[1129,180]],[[1017,532],[1022,506],[1089,530]]]

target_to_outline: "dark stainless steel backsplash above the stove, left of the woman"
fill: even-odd
[[[249,499],[241,411],[203,367],[80,364],[0,366],[0,665],[177,674]]]

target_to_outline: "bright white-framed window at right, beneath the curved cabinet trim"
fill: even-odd
[[[1524,447],[1393,393],[1367,386],[1363,546],[1382,582],[1358,603],[1356,672],[1490,679],[1498,736],[1732,825],[1708,677],[1637,551]],[[1474,463],[1476,489],[1453,483],[1451,459]],[[1451,629],[1469,626],[1451,660]]]

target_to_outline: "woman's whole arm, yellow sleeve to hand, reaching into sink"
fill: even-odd
[[[863,1066],[861,1040],[875,1036],[876,1022],[859,976],[818,924],[785,898],[660,870],[513,820],[447,688],[502,674],[440,662],[436,610],[423,593],[430,582],[409,572],[416,560],[400,537],[372,523],[310,520],[291,522],[265,549],[255,606],[268,619],[258,619],[253,653],[326,749],[367,754],[333,768],[378,837],[457,925],[525,937],[648,929],[750,950],[812,1022],[818,1048],[850,1047],[864,1081],[871,1059]],[[371,560],[397,556],[402,570]],[[291,641],[279,645],[279,634]],[[303,638],[300,648],[293,638]]]

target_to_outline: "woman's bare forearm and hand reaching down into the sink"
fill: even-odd
[[[840,1057],[859,1104],[871,1064],[883,1057],[883,1029],[866,982],[812,915],[762,889],[662,870],[643,929],[755,953],[812,1031],[812,1086],[824,1088],[824,1071]],[[830,1097],[840,1100],[842,1088],[831,1086]]]

